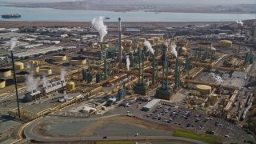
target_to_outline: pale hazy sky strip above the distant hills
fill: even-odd
[[[0,0],[0,2],[74,2],[81,0]],[[86,0],[94,2],[95,0]],[[117,2],[117,0],[96,0],[102,2]],[[129,0],[118,0],[119,2],[129,2]],[[146,4],[256,4],[256,0],[136,0],[137,3]]]

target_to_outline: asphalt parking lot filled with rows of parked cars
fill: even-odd
[[[194,130],[197,133],[206,133],[207,131],[208,134],[217,134],[222,137],[238,138],[241,134],[244,134],[238,127],[220,118],[208,117],[198,114],[193,110],[174,108],[161,104],[145,114],[143,118],[155,122],[166,122],[166,124]]]

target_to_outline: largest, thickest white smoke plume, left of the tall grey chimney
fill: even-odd
[[[104,36],[107,34],[107,28],[103,23],[103,17],[99,16],[98,18],[94,18],[91,25],[95,30],[98,31],[100,42],[102,42]]]

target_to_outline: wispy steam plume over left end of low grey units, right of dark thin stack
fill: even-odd
[[[40,78],[34,78],[33,73],[26,74],[26,90],[31,92],[32,90],[37,90],[38,88],[38,81]]]

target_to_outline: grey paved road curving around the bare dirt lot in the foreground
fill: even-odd
[[[110,115],[110,116],[106,116],[106,117],[101,117],[101,118],[107,118],[107,117],[113,117],[116,116],[118,114],[115,115]],[[34,134],[33,129],[35,126],[37,126],[38,124],[40,124],[41,122],[50,122],[50,121],[54,121],[54,119],[57,117],[52,117],[52,116],[47,116],[46,118],[40,118],[37,121],[34,121],[32,123],[30,123],[30,125],[26,126],[26,128],[24,129],[23,133],[26,136],[26,140],[36,140],[38,142],[79,142],[79,141],[102,141],[102,140],[127,140],[127,136],[118,136],[118,137],[108,137],[106,139],[102,139],[102,137],[45,137],[42,135],[38,135],[38,134]],[[75,120],[79,120],[79,121],[92,121],[92,120],[96,120],[99,118],[76,118]],[[74,120],[74,118],[66,118],[63,119],[62,121],[72,121]],[[169,139],[169,140],[182,140],[182,141],[186,141],[186,142],[194,142],[194,143],[198,143],[198,144],[206,144],[206,142],[201,142],[198,140],[194,140],[191,138],[182,138],[182,137],[174,137],[174,136],[140,136],[138,135],[138,137],[132,137],[130,136],[128,138],[129,140],[146,140],[146,139]]]

